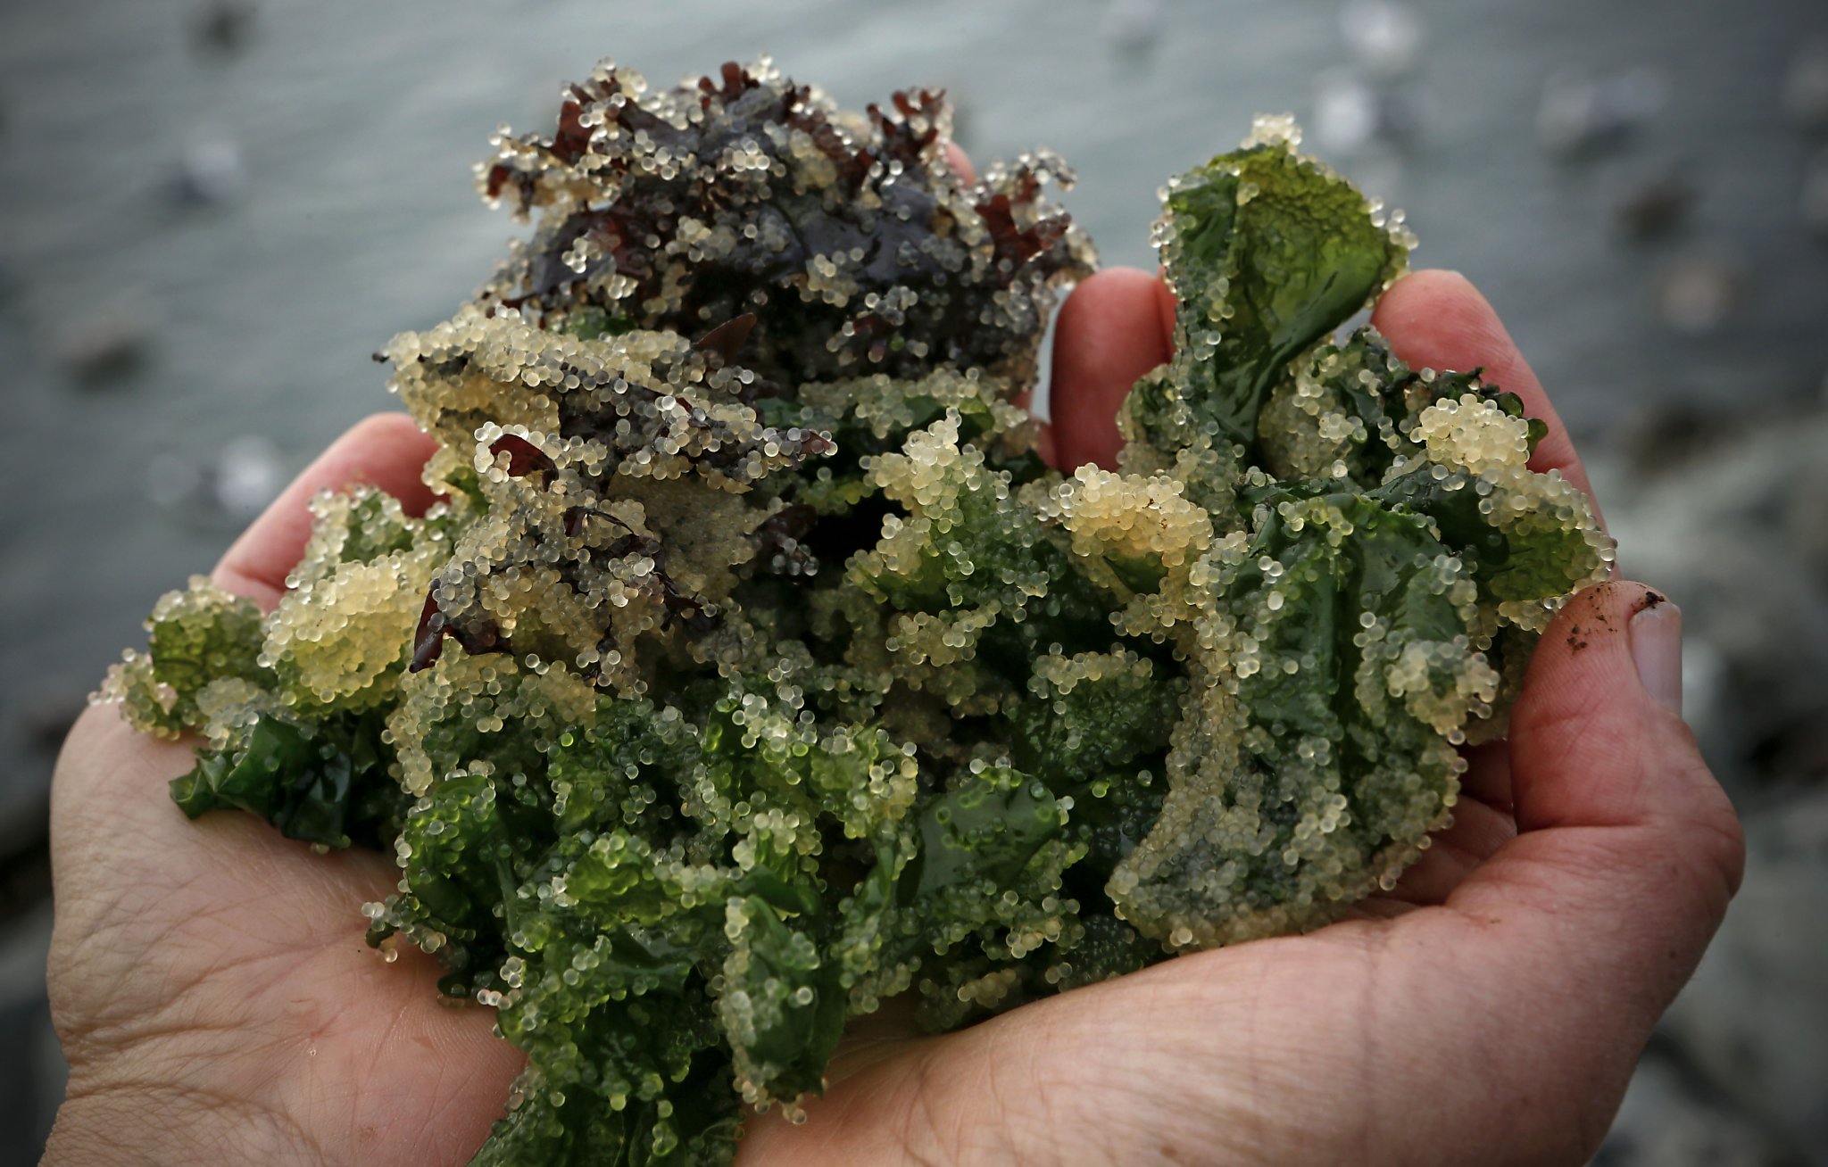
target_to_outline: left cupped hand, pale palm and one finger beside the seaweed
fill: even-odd
[[[228,550],[216,579],[263,608],[318,489],[366,480],[430,504],[431,438],[373,416]],[[521,1056],[494,1014],[439,1001],[431,957],[364,942],[391,857],[313,855],[249,815],[188,822],[166,780],[190,743],[77,721],[51,787],[51,1015],[69,1092],[46,1163],[461,1163],[501,1114]]]

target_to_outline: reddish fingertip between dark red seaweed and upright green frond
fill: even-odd
[[[1161,279],[1111,267],[1073,289],[1053,336],[1049,462],[1117,469],[1117,407],[1172,354],[1174,296]]]

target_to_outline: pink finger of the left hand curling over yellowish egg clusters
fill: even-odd
[[[433,449],[437,442],[404,413],[377,413],[356,422],[234,541],[212,577],[261,608],[272,608],[311,537],[313,495],[366,482],[399,499],[409,515],[424,513],[433,495],[419,471]]]

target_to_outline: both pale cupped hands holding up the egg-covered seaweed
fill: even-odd
[[[1113,464],[1115,405],[1166,356],[1170,309],[1144,272],[1075,290],[1057,466]],[[1587,486],[1470,283],[1411,274],[1375,323],[1411,363],[1483,365],[1523,394],[1548,422],[1534,466]],[[314,491],[366,480],[424,506],[430,449],[404,416],[356,426],[216,579],[271,606]],[[1567,606],[1510,741],[1472,760],[1455,824],[1395,893],[941,1037],[874,1019],[808,1121],[751,1120],[740,1162],[1585,1162],[1744,860],[1680,718],[1680,614],[1653,597],[1607,583]],[[318,857],[241,815],[192,824],[165,787],[188,765],[112,709],[58,763],[49,986],[71,1074],[46,1162],[462,1163],[521,1057],[490,1010],[437,1001],[430,957],[364,944],[356,908],[393,888],[391,860]]]

